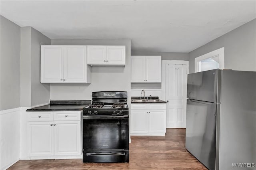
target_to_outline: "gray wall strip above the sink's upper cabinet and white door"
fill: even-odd
[[[131,55],[161,55],[162,60],[185,60],[188,61],[188,53],[153,52],[153,51],[132,51]]]

